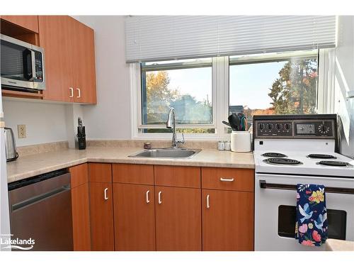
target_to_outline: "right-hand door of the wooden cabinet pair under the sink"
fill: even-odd
[[[200,189],[155,187],[156,250],[201,250]]]

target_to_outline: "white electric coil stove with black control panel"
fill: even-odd
[[[354,160],[336,115],[254,116],[255,250],[324,250],[295,239],[296,185],[324,184],[329,238],[354,240]]]

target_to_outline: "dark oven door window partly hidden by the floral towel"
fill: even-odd
[[[327,218],[329,220],[329,238],[346,240],[346,211],[327,209]],[[280,205],[278,207],[278,235],[295,238],[295,221],[295,206]]]

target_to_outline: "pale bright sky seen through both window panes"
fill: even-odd
[[[279,77],[285,62],[232,65],[229,69],[230,105],[249,106],[251,109],[267,109],[270,105],[269,88]],[[169,70],[170,88],[181,94],[190,94],[198,101],[212,99],[212,68]]]

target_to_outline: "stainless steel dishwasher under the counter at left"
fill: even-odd
[[[8,184],[8,199],[11,239],[32,238],[32,250],[73,250],[72,196],[67,170],[12,182]]]

